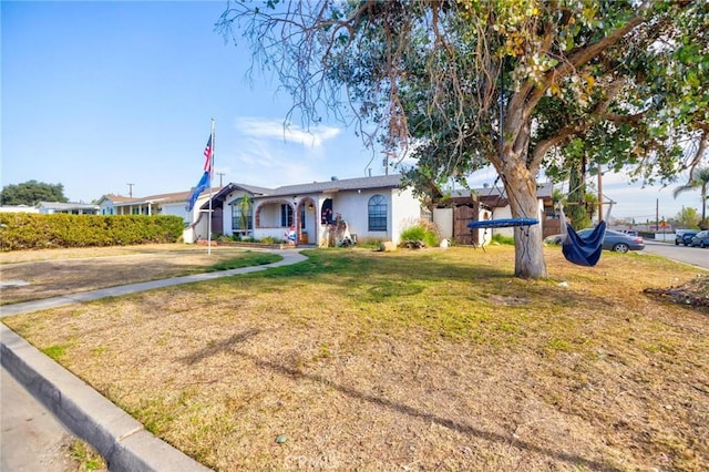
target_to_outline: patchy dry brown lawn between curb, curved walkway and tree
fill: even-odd
[[[643,294],[696,269],[309,254],[3,321],[220,471],[709,469],[708,312]]]

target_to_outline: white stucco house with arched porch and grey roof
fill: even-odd
[[[410,188],[401,186],[401,175],[332,178],[278,188],[229,184],[215,195],[212,206],[215,214],[222,208],[220,233],[225,235],[282,240],[294,226],[299,244],[328,246],[341,236],[343,225],[338,226],[339,220],[346,223],[354,242],[376,239],[397,244],[401,232],[421,218],[421,204]],[[244,197],[253,202],[247,218],[240,216]],[[203,209],[206,207],[204,204]]]

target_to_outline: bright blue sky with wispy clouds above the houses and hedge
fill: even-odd
[[[201,177],[212,119],[215,185],[383,174],[382,156],[340,123],[284,132],[289,98],[269,76],[246,80],[246,44],[214,31],[225,7],[2,1],[2,186],[61,183],[73,202],[131,187],[134,196],[187,191]],[[495,176],[483,171],[472,182]],[[617,217],[654,219],[658,201],[660,217],[700,208],[699,192],[675,199],[672,188],[604,179]]]

